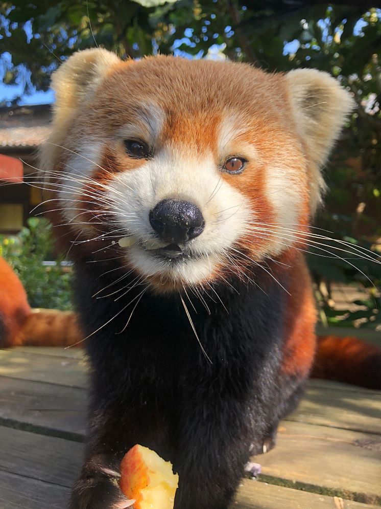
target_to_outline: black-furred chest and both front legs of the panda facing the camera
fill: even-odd
[[[93,336],[87,346],[94,408],[107,419],[94,418],[87,461],[103,455],[117,468],[132,446],[147,446],[172,461],[179,474],[175,509],[227,509],[251,444],[263,443],[278,417],[282,317],[272,303],[282,295],[275,290],[268,300],[246,287],[229,293],[229,315],[220,308],[209,315],[200,304],[197,338],[179,299],[147,294],[128,333],[107,336],[105,327]],[[112,318],[114,311],[106,311],[91,314],[102,321],[90,321],[88,333]],[[121,318],[113,330],[124,325]],[[99,475],[88,472],[76,485],[72,509],[92,509],[86,479],[97,481]],[[107,490],[104,480],[96,485]]]

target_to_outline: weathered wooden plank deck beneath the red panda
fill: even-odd
[[[0,350],[0,509],[65,509],[81,464],[86,362],[80,349]],[[381,392],[311,381],[257,456],[237,509],[375,509],[381,505]]]

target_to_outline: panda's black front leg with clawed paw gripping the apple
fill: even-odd
[[[69,509],[125,509],[131,501],[119,488],[120,464],[136,444],[169,459],[169,429],[152,402],[138,404],[122,394],[94,398],[85,461],[74,485]],[[146,404],[147,403],[147,404]]]

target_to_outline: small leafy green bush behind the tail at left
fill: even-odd
[[[21,279],[32,307],[70,309],[72,274],[57,265],[44,267],[53,253],[52,226],[46,219],[31,217],[28,228],[15,237],[0,235],[0,256],[11,264]]]

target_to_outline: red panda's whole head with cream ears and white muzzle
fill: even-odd
[[[250,277],[249,267],[291,249],[350,108],[332,78],[305,73],[173,57],[122,63],[104,50],[70,58],[54,78],[42,162],[47,178],[59,175],[72,240],[105,229],[124,265],[162,291]]]

